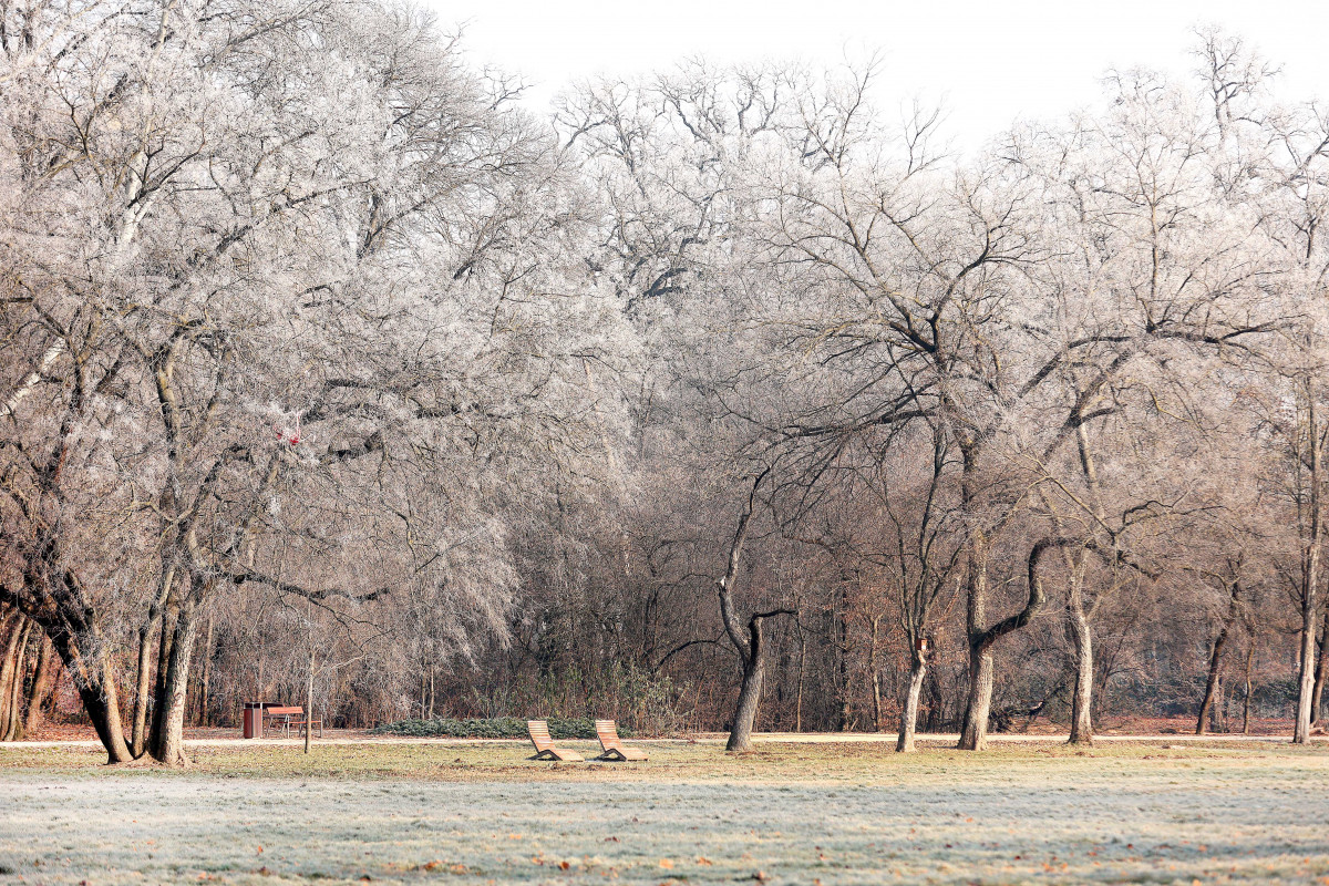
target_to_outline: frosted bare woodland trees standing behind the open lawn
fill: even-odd
[[[957,155],[870,61],[541,117],[408,7],[0,4],[0,733],[1304,741],[1329,114],[1192,61]]]

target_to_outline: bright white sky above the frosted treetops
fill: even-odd
[[[974,146],[1017,117],[1092,102],[1110,66],[1184,70],[1191,29],[1223,25],[1284,66],[1284,96],[1329,97],[1329,3],[1309,0],[425,0],[466,23],[469,56],[524,74],[544,108],[574,78],[716,62],[884,56],[877,101],[944,100]]]

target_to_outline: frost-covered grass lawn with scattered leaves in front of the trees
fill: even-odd
[[[1329,883],[1329,749],[0,752],[3,883]]]

